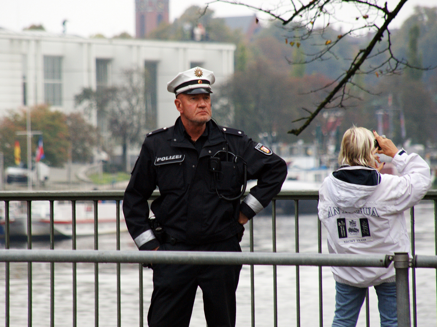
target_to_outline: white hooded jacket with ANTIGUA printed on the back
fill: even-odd
[[[341,167],[319,190],[319,218],[328,230],[329,253],[388,254],[409,252],[404,210],[430,188],[430,167],[419,155],[399,150],[392,164],[402,176],[374,168]],[[389,268],[331,267],[339,283],[369,287],[395,281]]]

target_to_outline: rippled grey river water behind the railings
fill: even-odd
[[[416,206],[416,254],[435,255],[434,205],[424,201]],[[407,222],[409,212],[406,212]],[[409,225],[407,223],[407,225]],[[247,230],[247,229],[246,229]],[[317,252],[317,216],[301,215],[299,220],[300,252]],[[277,252],[294,252],[294,217],[277,217]],[[270,217],[254,219],[255,251],[272,251]],[[323,253],[326,230],[322,228]],[[115,235],[99,235],[99,249],[115,249]],[[249,251],[249,235],[241,242],[243,251]],[[26,248],[25,243],[14,242],[11,248]],[[34,242],[34,249],[49,249],[49,242]],[[55,243],[55,249],[71,249],[71,240]],[[94,249],[94,238],[77,239],[77,249]],[[121,234],[121,250],[136,251],[128,233]],[[55,264],[55,326],[72,326],[72,265]],[[116,265],[99,265],[99,326],[117,326]],[[277,267],[278,326],[296,326],[296,269],[294,266]],[[410,274],[411,275],[411,274]],[[10,264],[10,326],[27,326],[27,264]],[[416,269],[418,326],[436,326],[436,271]],[[319,326],[318,268],[300,267],[301,326]],[[121,326],[139,326],[139,269],[137,264],[121,265]],[[144,269],[144,321],[152,294],[152,270]],[[410,281],[411,285],[411,281]],[[335,307],[335,283],[329,267],[323,268],[323,325],[330,326]],[[5,320],[5,265],[0,264],[0,325]],[[194,303],[191,327],[205,327],[201,290]],[[237,296],[237,326],[250,326],[250,267],[243,266]],[[371,326],[379,326],[375,290],[370,290]],[[33,326],[50,324],[50,265],[33,264]],[[94,264],[77,264],[77,322],[78,326],[94,326]],[[255,324],[273,326],[273,269],[255,266]],[[365,326],[364,306],[357,326]]]

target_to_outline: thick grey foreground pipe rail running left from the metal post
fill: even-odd
[[[391,255],[266,252],[0,250],[0,262],[166,263],[191,265],[277,265],[385,267]]]

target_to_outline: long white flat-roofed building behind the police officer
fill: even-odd
[[[234,71],[234,51],[234,44],[225,43],[97,39],[0,28],[0,115],[42,103],[72,112],[74,95],[83,88],[116,85],[123,69],[146,67],[156,84],[147,110],[156,115],[156,128],[171,126],[178,112],[166,83],[178,72],[201,66],[212,70],[220,84]]]

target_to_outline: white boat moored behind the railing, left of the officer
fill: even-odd
[[[121,204],[120,204],[121,207]],[[115,201],[99,201],[97,204],[98,234],[115,233],[116,226]],[[50,204],[49,201],[32,201],[32,236],[50,235]],[[72,206],[69,201],[53,203],[54,235],[71,237]],[[27,236],[26,202],[10,202],[9,214],[10,236]],[[0,210],[0,224],[4,228],[4,208]],[[120,231],[127,231],[123,211],[120,208]],[[94,235],[94,204],[92,202],[76,202],[76,235]]]

